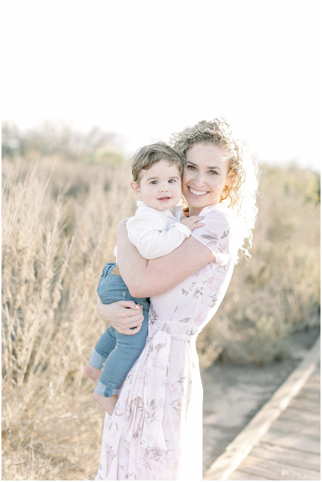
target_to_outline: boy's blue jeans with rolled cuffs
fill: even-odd
[[[110,326],[96,343],[89,363],[100,370],[103,367],[95,392],[104,397],[117,395],[129,369],[141,355],[148,333],[149,298],[133,298],[121,276],[111,274],[115,266],[115,263],[107,263],[103,268],[97,287],[100,300],[105,305],[121,300],[134,301],[142,305],[144,320],[135,335],[123,335]]]

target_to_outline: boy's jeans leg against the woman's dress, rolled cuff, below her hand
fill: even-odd
[[[141,330],[135,335],[123,335],[115,331],[117,344],[104,364],[100,381],[95,388],[97,395],[103,397],[117,395],[129,369],[144,348],[148,332],[148,314],[149,311],[143,308],[144,320]]]

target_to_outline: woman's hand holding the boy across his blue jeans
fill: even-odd
[[[110,305],[104,305],[97,300],[97,311],[103,321],[113,326],[118,333],[123,335],[135,335],[141,330],[144,319],[142,306],[134,301],[117,301]],[[134,328],[131,330],[131,328]]]

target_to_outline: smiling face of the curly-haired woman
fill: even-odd
[[[228,168],[229,157],[222,147],[198,142],[187,150],[182,194],[189,204],[190,215],[219,202],[223,187],[231,184]]]

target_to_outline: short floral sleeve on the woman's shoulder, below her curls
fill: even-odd
[[[194,229],[191,235],[210,249],[219,266],[225,266],[234,250],[232,238],[234,216],[231,211],[217,204],[211,211],[200,213],[205,216],[201,221],[205,226]]]

